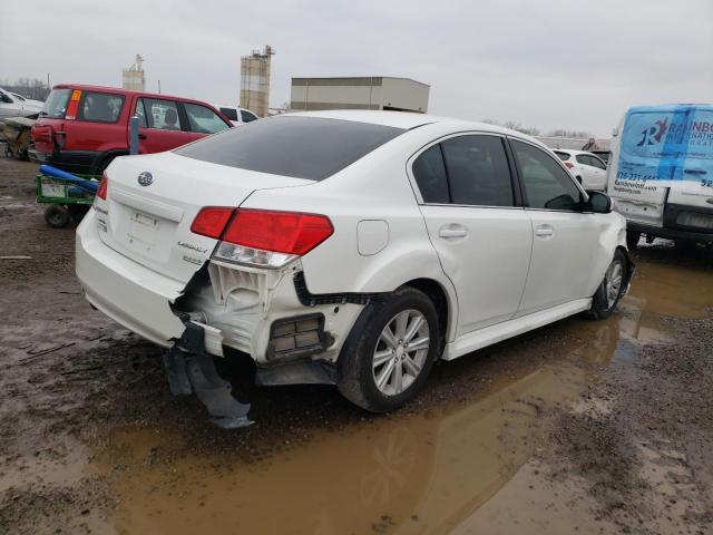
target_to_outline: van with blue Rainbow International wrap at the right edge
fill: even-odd
[[[629,108],[612,137],[607,193],[629,247],[667,237],[713,243],[713,105]]]

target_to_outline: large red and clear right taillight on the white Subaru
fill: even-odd
[[[281,268],[309,253],[334,232],[329,217],[297,212],[240,208],[225,222],[227,227],[214,257],[263,268]],[[215,228],[218,226],[219,222]]]

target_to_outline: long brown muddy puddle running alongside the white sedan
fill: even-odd
[[[619,313],[550,328],[566,335],[535,371],[504,373],[465,405],[374,417],[250,465],[224,454],[188,455],[182,447],[191,437],[170,431],[118,431],[96,467],[120,498],[109,522],[118,533],[448,533],[458,526],[485,533],[470,528],[487,532],[492,514],[529,496],[537,471],[528,459],[547,447],[548,421],[538,416],[572,403],[592,380],[576,361],[626,360],[637,344],[673,334],[662,315],[701,317],[711,303],[713,275],[639,263]],[[537,346],[545,334],[525,337]],[[498,351],[535,357],[521,343]],[[561,533],[570,527],[564,523]]]

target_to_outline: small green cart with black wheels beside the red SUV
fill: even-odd
[[[87,181],[98,182],[91,175],[75,175]],[[59,181],[43,174],[36,176],[37,203],[48,204],[45,221],[52,228],[64,228],[71,220],[81,221],[94,203],[95,194],[66,181]]]

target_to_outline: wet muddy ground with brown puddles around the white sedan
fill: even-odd
[[[433,370],[387,416],[258,389],[248,429],[173,398],[160,350],[95,312],[74,230],[0,158],[0,533],[713,533],[713,253],[642,245],[619,312]]]

